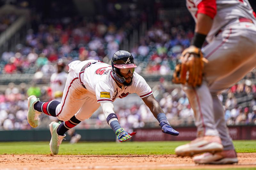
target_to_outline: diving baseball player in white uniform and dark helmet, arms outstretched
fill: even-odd
[[[87,60],[74,61],[68,66],[68,79],[61,102],[40,102],[36,96],[28,97],[27,117],[31,127],[37,127],[41,112],[64,121],[52,122],[49,125],[52,134],[52,154],[58,154],[61,141],[66,136],[65,132],[91,117],[100,106],[119,142],[132,138],[135,133],[130,134],[120,126],[113,110],[113,101],[117,97],[124,98],[131,93],[137,93],[142,98],[164,133],[179,135],[179,132],[170,126],[144,78],[134,72],[137,66],[131,53],[117,51],[112,57],[111,65],[97,60]]]

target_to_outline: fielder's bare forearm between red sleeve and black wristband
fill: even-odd
[[[212,28],[213,19],[205,14],[197,14],[195,33],[207,35]]]

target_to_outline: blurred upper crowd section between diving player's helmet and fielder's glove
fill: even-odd
[[[193,29],[189,16],[157,21],[139,44],[131,49],[139,68],[146,74],[166,75],[174,70],[177,56],[190,45]],[[192,23],[191,23],[192,25]]]

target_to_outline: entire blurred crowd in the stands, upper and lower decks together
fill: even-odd
[[[2,27],[15,21],[17,16],[0,17]],[[94,19],[66,17],[54,22],[39,23],[28,30],[24,44],[18,44],[13,51],[5,51],[0,60],[0,74],[38,73],[52,74],[58,59],[65,63],[74,60],[96,59],[109,62],[114,52],[120,49],[124,39],[129,38],[132,29],[145,21],[145,13],[134,13],[114,23],[106,16],[98,15]],[[5,24],[5,25],[4,25]],[[170,74],[176,59],[187,48],[193,37],[193,21],[190,15],[174,17],[173,20],[157,20],[144,35],[139,35],[138,43],[130,49],[138,65],[136,72],[146,75]],[[253,81],[256,70],[223,91],[219,97],[223,102],[228,125],[256,124],[256,84]],[[29,85],[10,83],[4,92],[0,92],[0,129],[31,129],[27,122],[27,97],[36,95],[41,101],[51,100],[49,85],[38,85],[37,80]],[[154,96],[163,108],[172,126],[194,125],[193,110],[185,93],[176,86],[166,85],[160,79],[153,88]],[[129,95],[130,96],[130,95]],[[129,96],[126,98],[129,99]],[[158,122],[141,99],[131,101],[127,107],[118,104],[115,112],[124,128],[156,127]],[[46,128],[52,121],[50,116],[41,115],[39,128]],[[77,128],[109,127],[106,118],[99,109],[92,118],[81,122]]]

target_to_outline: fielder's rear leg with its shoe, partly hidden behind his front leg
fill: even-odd
[[[213,108],[214,108],[214,119],[216,122],[216,128],[220,134],[221,142],[224,150],[217,154],[205,153],[200,156],[196,156],[194,161],[199,164],[227,164],[227,163],[237,163],[238,159],[236,157],[236,152],[234,145],[232,143],[232,138],[228,134],[228,128],[224,117],[224,109],[222,103],[220,102],[217,93],[222,90],[232,86],[237,81],[242,79],[247,72],[255,67],[256,56],[251,60],[248,60],[242,67],[236,70],[234,73],[226,78],[223,78],[217,82],[214,82],[210,91],[212,93]]]

